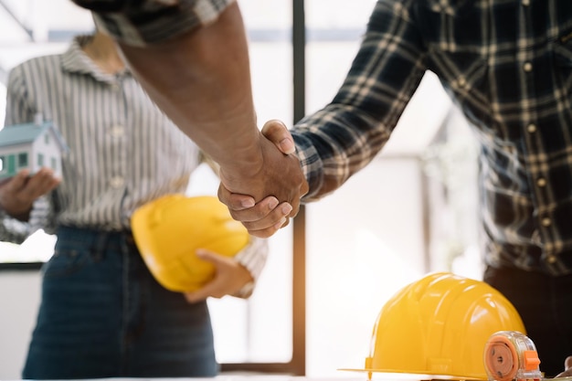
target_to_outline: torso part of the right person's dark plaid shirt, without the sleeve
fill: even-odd
[[[422,4],[428,68],[480,138],[491,260],[567,268],[558,255],[572,254],[572,2]]]

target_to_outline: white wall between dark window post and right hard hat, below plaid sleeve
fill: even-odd
[[[308,206],[307,371],[355,376],[377,313],[426,270],[418,163],[376,160]],[[365,377],[365,376],[364,376]]]

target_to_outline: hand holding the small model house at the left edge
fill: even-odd
[[[37,197],[46,195],[60,181],[49,168],[41,168],[31,176],[24,169],[0,185],[0,207],[11,217],[26,221]]]

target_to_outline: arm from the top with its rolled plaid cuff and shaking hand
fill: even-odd
[[[143,89],[220,165],[226,189],[255,201],[274,196],[296,215],[305,180],[297,158],[258,129],[246,32],[233,0],[74,1],[100,12],[98,25],[119,41]]]

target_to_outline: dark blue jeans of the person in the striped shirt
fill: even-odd
[[[154,280],[132,236],[59,228],[23,378],[216,376],[206,302]]]

